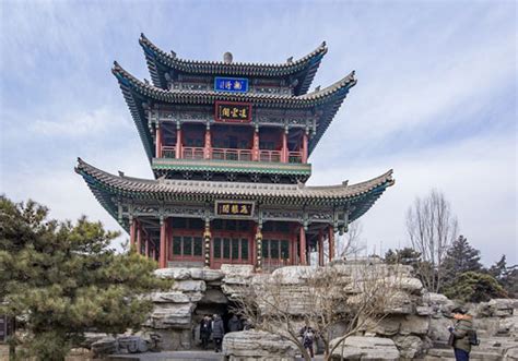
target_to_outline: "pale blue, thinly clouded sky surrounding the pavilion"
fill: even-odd
[[[75,158],[151,178],[110,67],[149,79],[140,33],[181,58],[283,62],[326,40],[313,87],[356,71],[310,184],[397,183],[363,217],[369,251],[407,245],[415,196],[444,192],[491,264],[517,250],[515,1],[2,1],[0,190],[58,218],[118,225]]]

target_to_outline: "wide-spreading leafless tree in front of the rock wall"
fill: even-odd
[[[311,358],[301,328],[309,325],[323,345],[323,359],[330,360],[346,337],[374,329],[401,299],[398,266],[390,267],[284,267],[243,286],[234,294],[234,312],[255,329],[292,341],[305,360]]]

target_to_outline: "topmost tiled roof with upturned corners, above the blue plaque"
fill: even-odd
[[[223,61],[200,61],[178,58],[175,53],[161,50],[151,43],[144,34],[139,39],[148,61],[153,84],[163,89],[167,88],[165,73],[215,74],[234,76],[286,77],[297,80],[295,95],[305,94],[320,65],[323,55],[328,51],[326,41],[307,56],[284,63],[244,63]]]

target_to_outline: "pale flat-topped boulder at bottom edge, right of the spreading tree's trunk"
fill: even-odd
[[[331,348],[340,339],[331,340]],[[333,360],[399,360],[396,344],[390,338],[350,336],[331,353]]]

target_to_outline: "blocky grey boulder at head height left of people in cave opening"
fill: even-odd
[[[157,303],[144,326],[161,328],[190,328],[193,303]]]

